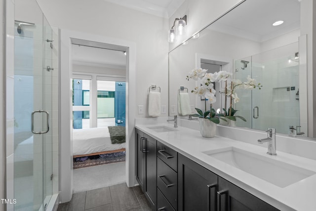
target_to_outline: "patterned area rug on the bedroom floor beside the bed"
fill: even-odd
[[[74,158],[74,169],[122,161],[125,161],[125,152],[115,152],[102,155]]]

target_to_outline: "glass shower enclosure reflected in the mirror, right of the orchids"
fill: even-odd
[[[235,61],[235,78],[250,76],[261,89],[238,89],[238,127],[288,133],[289,126],[300,126],[298,42]],[[286,124],[284,124],[286,123]]]

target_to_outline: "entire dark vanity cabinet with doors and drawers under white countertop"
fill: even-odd
[[[135,141],[136,179],[155,211],[278,211],[138,129]]]

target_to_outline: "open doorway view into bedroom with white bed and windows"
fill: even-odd
[[[127,48],[85,44],[72,44],[74,193],[125,182]]]

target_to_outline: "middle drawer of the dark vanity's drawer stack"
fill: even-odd
[[[168,167],[159,158],[157,159],[157,186],[176,210],[178,206],[177,175],[177,172]]]

